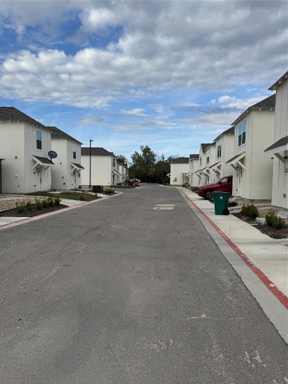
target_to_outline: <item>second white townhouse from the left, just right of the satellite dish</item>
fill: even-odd
[[[81,185],[81,142],[55,126],[51,132],[51,147],[57,153],[53,158],[51,189],[74,189]]]

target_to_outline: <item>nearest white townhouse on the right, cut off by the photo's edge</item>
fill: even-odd
[[[277,210],[288,210],[288,72],[269,89],[276,90],[274,138],[264,149],[273,163],[272,205]]]

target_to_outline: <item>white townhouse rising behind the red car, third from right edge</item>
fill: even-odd
[[[234,154],[234,126],[224,130],[215,139],[214,163],[209,166],[210,183],[220,177],[231,176],[231,166],[225,162]]]

